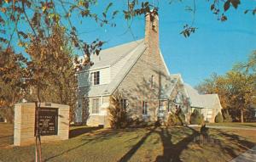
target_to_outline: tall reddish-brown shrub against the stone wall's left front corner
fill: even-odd
[[[116,94],[110,97],[110,106],[108,107],[110,114],[110,126],[113,129],[125,128],[130,120],[126,109],[123,109],[120,102],[122,96]]]

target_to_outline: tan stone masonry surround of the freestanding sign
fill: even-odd
[[[41,103],[41,107],[58,109],[58,134],[42,136],[42,142],[68,139],[69,106],[56,103]],[[35,142],[35,103],[15,104],[14,145],[23,146]]]

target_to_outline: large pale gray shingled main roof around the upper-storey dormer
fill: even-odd
[[[102,50],[100,53],[100,59],[98,56],[92,57],[94,64],[90,67],[90,70],[95,70],[103,67],[111,67],[117,63],[120,59],[123,59],[126,55],[131,55],[128,61],[119,70],[119,73],[114,77],[114,80],[109,84],[98,85],[92,87],[82,87],[80,89],[79,96],[104,96],[110,95],[119,86],[120,82],[123,81],[125,75],[131,70],[132,66],[137,62],[140,56],[144,53],[146,46],[143,40],[135,42],[125,43],[116,47],[110,47]]]

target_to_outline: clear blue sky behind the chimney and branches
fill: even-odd
[[[93,8],[101,13],[109,2],[99,1]],[[112,10],[125,8],[125,0],[114,1]],[[157,1],[154,1],[157,2]],[[246,8],[256,6],[255,0],[241,0],[237,10],[230,8],[226,14],[228,20],[220,22],[210,10],[207,0],[195,0],[195,27],[198,30],[189,38],[180,35],[183,25],[190,23],[192,14],[184,8],[192,1],[168,4],[168,0],[159,1],[160,48],[171,73],[181,73],[183,80],[197,85],[213,72],[223,75],[236,62],[246,61],[249,53],[256,49],[256,16],[243,14]],[[251,6],[250,6],[251,5]],[[96,38],[106,41],[103,48],[113,47],[125,42],[141,39],[144,36],[144,18],[138,17],[131,23],[124,20],[120,12],[115,20],[117,26],[100,27],[94,20],[73,17],[80,37],[92,42]]]

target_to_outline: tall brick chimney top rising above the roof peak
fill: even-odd
[[[156,11],[146,14],[145,44],[149,53],[159,55],[159,18]]]

